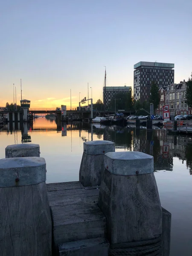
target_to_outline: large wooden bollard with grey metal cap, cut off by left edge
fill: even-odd
[[[0,160],[1,256],[51,256],[52,223],[40,157]]]

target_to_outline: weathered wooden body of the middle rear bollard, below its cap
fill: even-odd
[[[100,186],[101,176],[104,171],[105,155],[89,155],[83,153],[79,170],[79,180],[83,186]]]

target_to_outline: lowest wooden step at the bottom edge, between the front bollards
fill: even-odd
[[[59,245],[59,256],[108,256],[105,238],[92,238]]]

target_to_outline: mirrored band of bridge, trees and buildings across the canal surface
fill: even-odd
[[[105,126],[100,124],[89,124],[82,122],[64,123],[55,120],[41,119],[38,122],[35,119],[34,124],[29,123],[8,123],[1,131],[7,134],[14,134],[15,144],[20,143],[17,139],[18,130],[21,131],[21,143],[32,142],[32,133],[28,131],[57,131],[61,133],[61,137],[71,137],[72,148],[72,131],[79,131],[79,138],[82,141],[93,140],[93,135],[99,140],[110,140],[115,142],[116,150],[142,151],[154,157],[154,171],[157,170],[173,170],[173,157],[186,160],[186,168],[192,175],[192,138],[187,136],[169,135],[164,129],[154,129],[146,131],[146,129],[136,129],[134,127],[118,127]],[[82,131],[86,131],[86,136]],[[67,135],[67,132],[70,134]],[[94,139],[95,140],[95,139]]]

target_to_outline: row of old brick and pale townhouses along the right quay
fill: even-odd
[[[163,106],[169,105],[170,115],[192,114],[192,108],[186,103],[186,81],[179,84],[169,84],[160,88],[160,105],[157,108],[157,115],[163,116]]]

